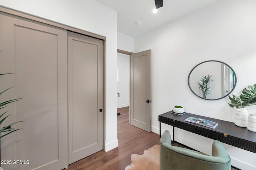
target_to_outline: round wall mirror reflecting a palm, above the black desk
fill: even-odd
[[[226,63],[204,61],[197,64],[188,75],[188,86],[199,98],[218,100],[228,96],[236,86],[236,74]]]

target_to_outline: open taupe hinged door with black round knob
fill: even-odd
[[[151,132],[151,50],[130,60],[130,123]]]

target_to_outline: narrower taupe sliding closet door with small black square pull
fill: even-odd
[[[68,32],[68,163],[103,149],[103,41]]]

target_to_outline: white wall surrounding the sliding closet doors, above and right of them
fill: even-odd
[[[117,14],[95,0],[0,0],[1,6],[106,37],[105,150],[118,147],[116,117]]]

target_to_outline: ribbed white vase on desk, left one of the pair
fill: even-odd
[[[246,108],[235,109],[235,125],[239,127],[247,127],[248,111]]]

